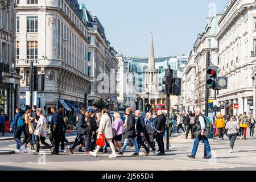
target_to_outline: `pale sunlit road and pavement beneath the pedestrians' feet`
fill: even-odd
[[[75,135],[67,136],[69,141],[75,139]],[[247,137],[247,140],[236,140],[234,153],[229,153],[229,140],[225,138],[219,141],[217,138],[210,140],[212,159],[203,159],[204,145],[199,144],[196,159],[187,158],[191,154],[193,140],[185,139],[185,135],[171,137],[172,148],[166,151],[166,155],[159,156],[150,153],[145,156],[142,148],[138,157],[133,157],[133,148],[127,148],[123,156],[108,158],[108,154],[100,153],[97,158],[75,150],[75,154],[60,153],[51,155],[49,150],[40,150],[42,155],[13,154],[0,155],[0,169],[6,170],[256,170],[256,138]],[[0,141],[0,150],[6,148],[6,144],[15,142]],[[47,141],[48,142],[48,141]],[[9,148],[9,147],[7,147]],[[67,149],[67,148],[66,148]],[[10,148],[9,148],[10,150]],[[68,150],[68,149],[67,149]]]

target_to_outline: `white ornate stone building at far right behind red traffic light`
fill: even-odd
[[[256,67],[256,3],[253,0],[229,1],[218,20],[216,40],[219,43],[219,76],[228,77],[228,89],[217,98],[224,114],[255,112],[253,92]],[[238,104],[238,109],[234,109]],[[253,109],[254,108],[254,109]]]

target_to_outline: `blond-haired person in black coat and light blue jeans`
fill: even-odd
[[[129,146],[129,140],[133,142],[135,152],[132,156],[139,156],[139,148],[138,143],[136,140],[136,131],[135,131],[135,116],[132,113],[131,107],[127,107],[126,114],[128,115],[127,118],[127,127],[125,130],[125,134],[123,135],[123,138],[125,139],[125,142],[123,143],[123,147],[120,152],[118,152],[119,155],[123,155],[123,152],[125,152],[126,147]]]

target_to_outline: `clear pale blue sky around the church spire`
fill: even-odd
[[[188,54],[209,13],[226,0],[79,0],[105,28],[110,46],[123,55],[148,56],[153,31],[155,56]],[[210,7],[209,7],[210,5]]]

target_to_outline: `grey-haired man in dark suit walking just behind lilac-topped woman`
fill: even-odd
[[[144,147],[146,150],[146,155],[148,155],[150,150],[147,148],[146,144],[144,144],[143,142],[143,137],[147,135],[144,117],[143,115],[141,115],[141,111],[139,110],[135,111],[135,117],[138,118],[137,125],[136,125],[138,147],[139,149],[141,148],[141,146]]]

